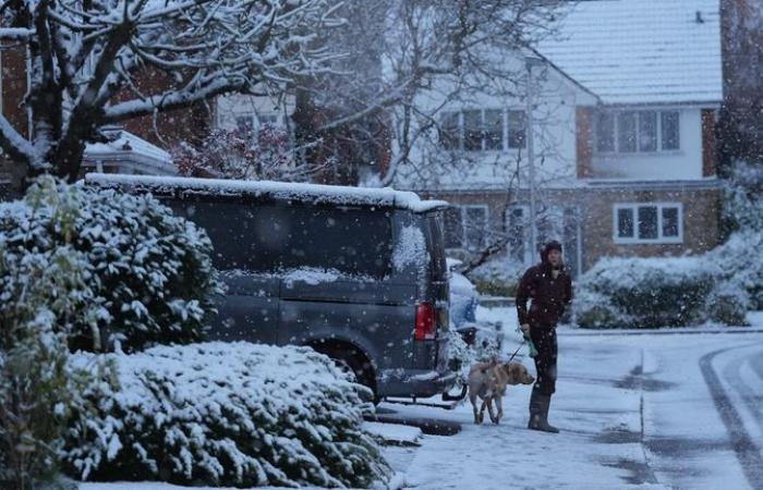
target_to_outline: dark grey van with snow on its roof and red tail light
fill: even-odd
[[[227,285],[210,340],[310,345],[377,397],[426,397],[448,366],[439,210],[415,194],[275,182],[88,174],[150,192],[206,230]]]

